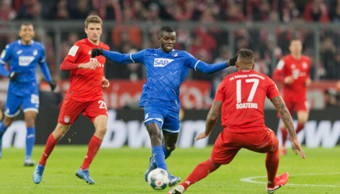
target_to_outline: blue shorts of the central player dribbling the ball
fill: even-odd
[[[164,106],[145,106],[144,124],[157,123],[160,129],[169,133],[179,133],[179,111],[166,108]]]

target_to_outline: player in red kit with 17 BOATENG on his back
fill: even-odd
[[[281,113],[292,137],[292,146],[301,158],[306,159],[293,127],[293,121],[276,85],[268,77],[254,68],[254,54],[248,49],[238,51],[236,67],[238,72],[227,76],[219,85],[212,107],[206,117],[205,132],[195,140],[206,138],[222,111],[221,120],[224,130],[215,141],[210,158],[196,166],[187,179],[168,194],[182,194],[187,188],[206,177],[219,166],[229,164],[241,148],[267,153],[266,168],[268,175],[267,193],[274,193],[288,181],[288,173],[277,177],[278,139],[275,133],[265,126],[264,105],[266,96]]]

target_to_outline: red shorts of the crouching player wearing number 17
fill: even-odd
[[[210,160],[215,164],[229,164],[241,148],[266,153],[278,146],[275,133],[269,128],[249,133],[233,133],[223,130],[215,141]]]

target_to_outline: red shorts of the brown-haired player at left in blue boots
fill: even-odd
[[[92,102],[78,102],[66,96],[62,108],[60,109],[58,123],[63,125],[72,124],[77,120],[80,112],[94,122],[99,115],[107,116],[107,108],[103,99]]]

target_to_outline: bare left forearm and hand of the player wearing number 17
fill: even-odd
[[[200,133],[195,140],[204,139],[210,135],[212,128],[214,128],[218,116],[221,113],[222,101],[214,100],[205,121],[205,132]]]

